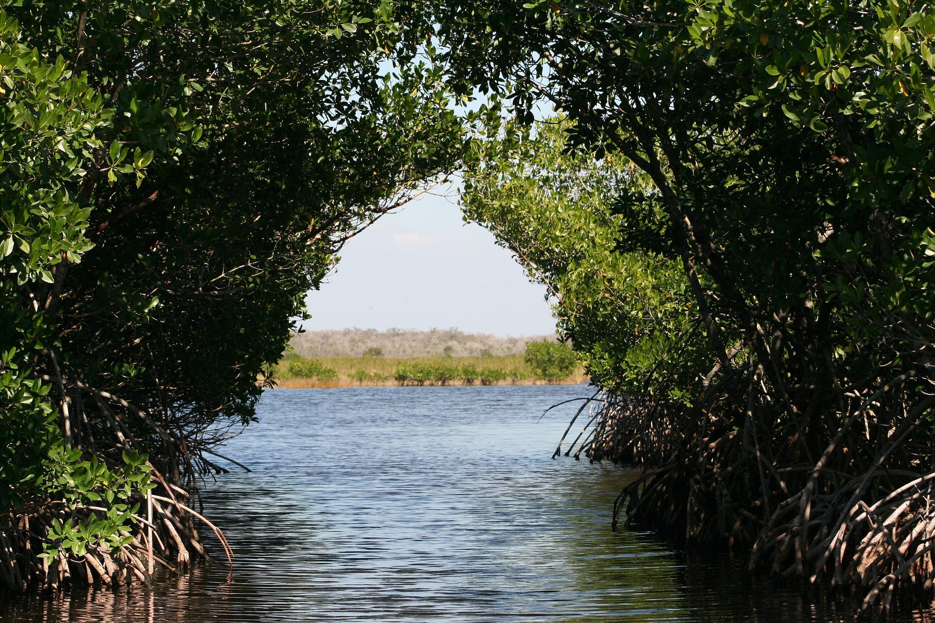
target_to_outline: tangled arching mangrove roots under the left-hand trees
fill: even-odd
[[[205,453],[247,469],[210,450],[223,443],[228,432],[223,427],[171,430],[156,421],[171,421],[165,414],[153,418],[109,391],[65,378],[57,368],[54,376],[42,378],[54,382],[62,404],[71,407],[63,409],[69,450],[78,451],[81,460],[97,461],[118,472],[125,466],[126,452],[145,454],[154,488],[114,501],[140,510],[108,543],[75,547],[65,539],[57,543],[50,537],[53,526],[61,522],[79,525],[108,517],[111,509],[104,502],[67,505],[61,499],[32,500],[27,508],[0,514],[0,588],[34,586],[56,591],[70,583],[113,587],[122,582],[150,582],[159,569],[184,571],[195,557],[208,556],[195,530],[197,522],[215,533],[233,570],[233,551],[223,532],[193,509],[196,503],[189,492],[197,491],[198,479],[206,474],[226,472],[205,458]],[[61,553],[53,559],[43,557],[47,545],[58,545],[51,550]]]

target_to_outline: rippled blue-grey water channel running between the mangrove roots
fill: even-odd
[[[206,483],[234,547],[151,590],[0,602],[6,621],[830,621],[850,605],[744,586],[725,556],[611,532],[634,474],[552,460],[587,388],[268,391]],[[929,620],[921,613],[907,620]]]

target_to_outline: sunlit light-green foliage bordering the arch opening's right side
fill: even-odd
[[[559,326],[595,382],[641,392],[646,375],[666,375],[665,389],[649,389],[681,396],[696,378],[693,358],[705,355],[691,331],[681,264],[640,248],[641,228],[658,219],[658,208],[628,202],[648,191],[649,180],[619,155],[598,162],[568,153],[572,128],[564,120],[532,130],[509,123],[496,139],[479,142],[482,158],[466,177],[465,217],[496,234],[553,293]],[[679,336],[683,348],[674,349]],[[568,375],[568,347],[554,347],[561,370],[545,361],[549,346],[536,348],[537,375]]]

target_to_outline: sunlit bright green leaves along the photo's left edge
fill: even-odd
[[[76,186],[94,169],[95,150],[105,147],[98,133],[110,111],[61,56],[47,62],[22,44],[19,24],[2,11],[0,94],[0,508],[48,498],[66,508],[125,500],[148,486],[146,458],[135,455],[111,470],[66,447],[51,385],[35,369],[55,342],[49,313],[23,304],[40,300],[57,266],[80,262],[94,247],[85,236],[91,210],[80,205]],[[73,522],[87,537],[75,546],[110,543],[125,523],[125,516]],[[47,545],[50,555],[58,551]]]

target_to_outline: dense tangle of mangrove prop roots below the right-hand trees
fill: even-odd
[[[922,426],[935,401],[877,408],[895,389],[857,396],[824,440],[762,395],[741,413],[608,395],[577,451],[644,468],[618,496],[614,527],[626,511],[626,526],[742,547],[751,571],[885,609],[935,592],[935,446]]]

